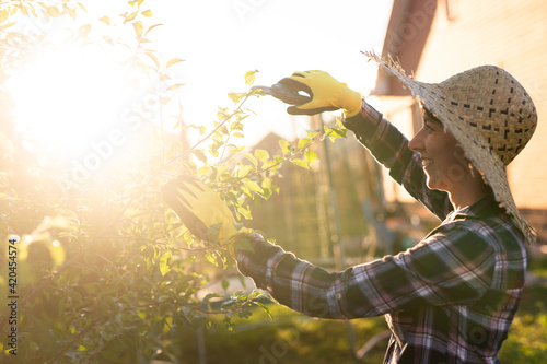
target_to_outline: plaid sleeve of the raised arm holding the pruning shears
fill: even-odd
[[[446,192],[427,187],[427,177],[418,153],[408,148],[408,139],[382,114],[363,101],[361,111],[345,120],[357,140],[365,146],[389,175],[415,199],[441,220],[453,210]]]

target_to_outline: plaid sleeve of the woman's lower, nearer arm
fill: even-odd
[[[237,253],[240,271],[274,298],[309,316],[350,319],[423,305],[459,305],[491,285],[491,246],[457,225],[440,230],[416,247],[328,272],[254,234],[254,253]]]

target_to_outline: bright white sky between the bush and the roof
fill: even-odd
[[[365,95],[377,69],[361,51],[381,51],[392,2],[163,0],[149,4],[154,21],[163,24],[150,38],[166,58],[185,59],[175,72],[186,84],[181,89],[183,116],[188,124],[202,124],[216,118],[218,106],[231,105],[229,92],[248,90],[244,74],[249,70],[258,71],[259,85],[294,71],[324,70]],[[256,116],[246,122],[246,134],[259,139],[275,131],[291,138],[303,132],[306,119],[289,117],[284,104],[269,98],[248,103]]]

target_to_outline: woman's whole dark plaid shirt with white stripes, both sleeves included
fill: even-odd
[[[524,284],[524,237],[493,196],[454,211],[445,192],[428,189],[408,140],[365,103],[346,126],[442,224],[404,253],[342,272],[254,234],[255,251],[237,253],[240,271],[310,316],[385,315],[392,337],[384,363],[499,363]]]

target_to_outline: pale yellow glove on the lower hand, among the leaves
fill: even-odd
[[[232,245],[235,219],[232,211],[212,189],[189,176],[178,176],[162,187],[163,198],[175,210],[186,227],[202,240],[219,240],[222,248],[235,257]],[[210,227],[221,224],[217,236],[210,236]]]

